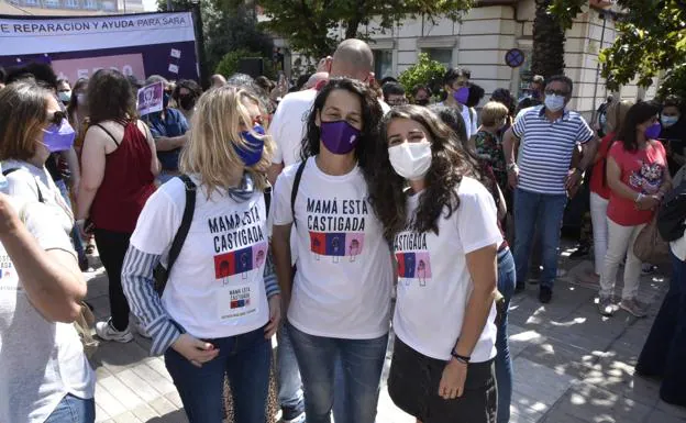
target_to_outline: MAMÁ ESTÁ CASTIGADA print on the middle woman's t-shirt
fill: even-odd
[[[314,259],[331,257],[353,263],[364,251],[365,216],[369,207],[365,200],[307,200],[310,252]]]

